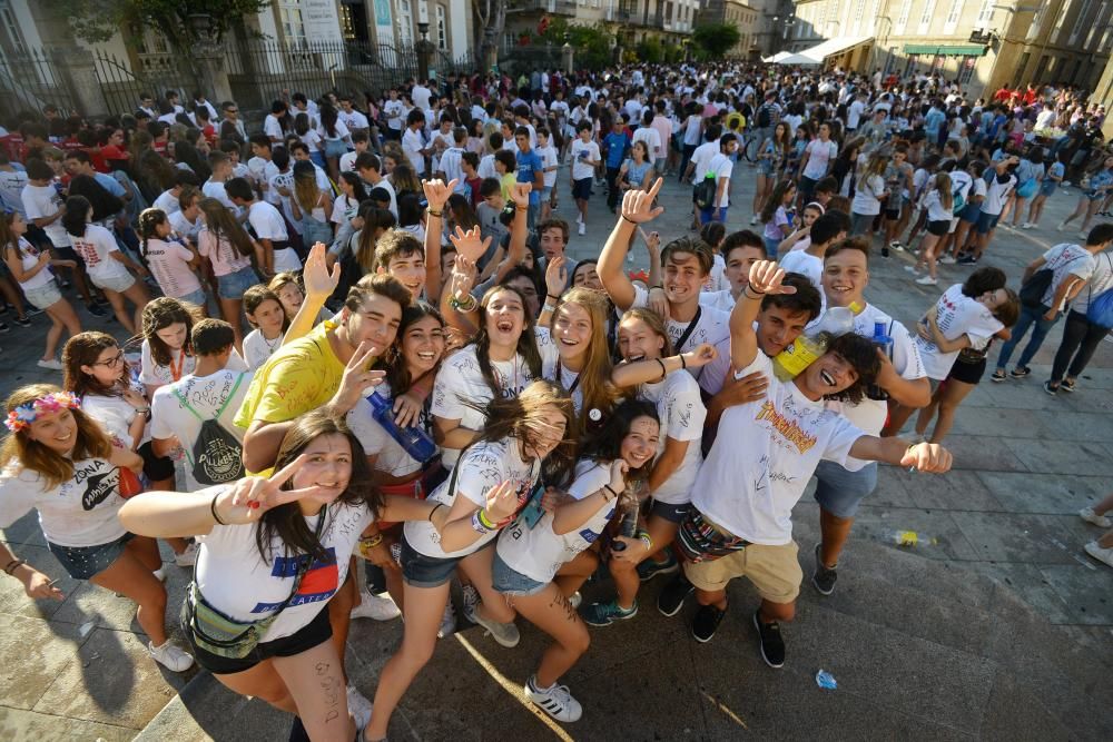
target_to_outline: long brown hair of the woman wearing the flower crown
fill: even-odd
[[[4,402],[4,414],[20,405],[35,402],[48,394],[61,392],[53,384],[29,384],[21,386],[8,396]],[[91,417],[81,409],[71,409],[77,423],[77,435],[73,438],[73,451],[69,457],[32,441],[28,428],[9,433],[0,445],[0,467],[17,463],[26,471],[37,473],[46,482],[46,488],[53,489],[73,476],[73,462],[86,458],[108,458],[112,452],[112,443]]]

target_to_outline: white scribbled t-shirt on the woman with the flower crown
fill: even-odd
[[[73,462],[73,476],[47,488],[42,476],[17,465],[0,472],[0,528],[31,508],[39,512],[42,534],[59,546],[99,546],[125,534],[117,514],[120,473],[104,458]]]

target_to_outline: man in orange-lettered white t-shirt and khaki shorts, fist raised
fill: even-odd
[[[648,216],[651,201],[628,218]],[[761,597],[754,614],[761,656],[771,667],[784,666],[785,642],[779,623],[795,616],[802,572],[792,541],[792,507],[821,458],[845,462],[854,456],[946,472],[951,454],[935,444],[908,446],[898,438],[865,435],[825,407],[825,400],[861,399],[877,376],[874,345],[856,334],[841,335],[828,352],[790,382],[772,374],[772,360],[758,348],[754,321],[766,296],[794,290],[782,287],[785,271],[759,261],[730,316],[730,356],[736,378],[751,372],[768,377],[765,399],[730,407],[719,435],[700,467],[692,488],[692,507],[676,544],[684,556],[683,575],[658,598],[664,615],[676,615],[693,588],[700,610],[692,635],[715,636],[727,610],[728,583],[747,577]],[[745,446],[738,442],[745,441]]]

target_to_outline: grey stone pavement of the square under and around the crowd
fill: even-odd
[[[740,207],[731,209],[731,230],[748,221],[754,187],[752,169],[736,172]],[[571,221],[565,178],[559,212]],[[664,241],[687,233],[689,194],[674,180],[666,186],[667,211],[653,222]],[[985,263],[1004,268],[1016,287],[1027,261],[1074,239],[1053,227],[1076,198],[1074,188],[1056,194],[1042,229],[999,229]],[[588,235],[573,227],[573,258],[598,255],[613,224],[601,189],[591,209]],[[631,267],[644,265],[640,249]],[[906,324],[968,273],[943,266],[938,287],[917,286],[903,270],[909,260],[876,257],[867,289]],[[83,313],[82,320],[105,327]],[[0,392],[60,380],[35,367],[45,320],[33,321],[0,336]],[[732,585],[730,614],[701,645],[681,621],[691,606],[671,620],[656,611],[659,580],[647,585],[636,620],[592,630],[592,647],[562,680],[584,703],[579,723],[562,729],[521,702],[521,684],[546,642],[523,622],[515,650],[474,627],[442,641],[392,738],[1113,739],[1113,570],[1082,552],[1099,530],[1076,516],[1113,489],[1113,345],[1101,345],[1074,395],[1050,397],[1040,384],[1060,334],[1052,330],[1031,378],[986,380],[966,399],[945,442],[955,471],[935,477],[881,468],[838,590],[821,597],[802,587],[798,619],[785,630],[784,670],[769,670],[758,655],[750,623],[757,598],[748,584]],[[818,533],[810,494],[796,515],[810,574]],[[898,531],[917,532],[917,545],[898,547]],[[0,581],[0,739],[285,739],[288,716],[233,695],[207,673],[168,673],[146,657],[132,604],[65,577],[33,515],[2,537],[61,577],[67,598],[31,602],[14,581]],[[176,615],[188,572],[168,572]],[[585,600],[609,590],[591,584]],[[398,621],[355,622],[348,667],[368,698],[401,635]],[[819,669],[838,680],[837,690],[817,687]]]

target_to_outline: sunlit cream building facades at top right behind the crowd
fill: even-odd
[[[1003,85],[1094,89],[1113,47],[1107,0],[797,0],[785,50],[854,44],[844,69],[936,71],[973,95]]]

